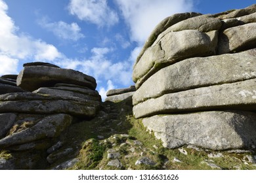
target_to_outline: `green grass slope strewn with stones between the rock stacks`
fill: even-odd
[[[107,111],[106,108],[111,111]],[[255,156],[255,152],[236,154],[223,151],[221,152],[222,158],[209,158],[208,154],[217,154],[219,151],[203,149],[198,151],[183,146],[182,148],[187,152],[187,155],[184,155],[178,148],[164,148],[161,140],[156,139],[154,133],[146,131],[141,120],[133,117],[131,109],[131,103],[128,101],[106,102],[103,110],[106,110],[108,116],[105,118],[96,116],[91,121],[79,122],[69,127],[63,136],[64,139],[68,139],[65,142],[66,147],[81,144],[77,147],[77,153],[73,154],[73,157],[69,157],[79,159],[79,162],[70,169],[215,169],[209,167],[207,163],[202,163],[205,161],[214,163],[221,169],[237,169],[238,167],[240,169],[256,169],[252,163],[244,163],[245,155]],[[123,137],[121,134],[129,136]],[[102,135],[104,139],[99,140],[98,135]],[[142,142],[142,145],[135,145],[135,140]],[[121,144],[122,146],[120,146]],[[121,154],[118,159],[123,165],[122,167],[108,166],[111,159],[107,158],[107,151],[110,149]],[[135,165],[135,162],[142,157],[152,159],[156,165]],[[174,162],[174,158],[181,162]]]

